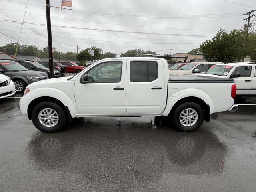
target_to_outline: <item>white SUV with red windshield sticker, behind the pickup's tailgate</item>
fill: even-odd
[[[234,79],[238,96],[256,96],[256,62],[214,65],[200,75]]]

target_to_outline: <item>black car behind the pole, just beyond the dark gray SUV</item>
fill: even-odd
[[[27,60],[15,60],[15,61],[21,64],[22,66],[24,66],[25,68],[27,68],[28,70],[46,72],[48,77],[50,77],[50,69],[46,68],[45,66],[43,66],[38,62],[27,61]],[[53,77],[54,78],[61,77],[59,70],[56,70],[56,69],[53,70]]]

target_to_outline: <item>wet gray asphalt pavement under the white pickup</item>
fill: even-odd
[[[0,100],[0,191],[256,191],[256,104],[192,133],[154,116],[80,118],[44,134]]]

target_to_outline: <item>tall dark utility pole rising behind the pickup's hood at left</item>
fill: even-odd
[[[49,69],[50,69],[50,78],[53,78],[52,28],[51,28],[51,15],[50,15],[50,0],[45,0],[45,6],[46,6],[46,21],[47,21],[47,34],[48,34]]]

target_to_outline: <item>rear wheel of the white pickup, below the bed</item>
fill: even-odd
[[[172,114],[172,122],[178,131],[195,131],[204,122],[204,112],[202,107],[194,102],[180,104]]]

